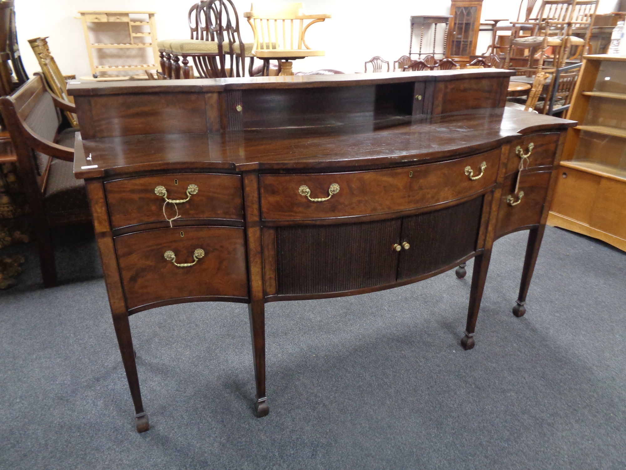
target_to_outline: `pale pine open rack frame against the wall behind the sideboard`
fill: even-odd
[[[156,23],[154,11],[79,11],[83,32],[85,33],[85,43],[87,44],[87,54],[89,65],[94,78],[103,72],[132,71],[132,70],[156,70],[159,63],[158,46],[156,45]],[[131,21],[131,16],[143,16],[147,21]],[[92,43],[88,23],[127,23],[129,41],[126,43]],[[150,31],[138,31],[138,26],[148,26]],[[97,34],[97,31],[94,31]],[[138,38],[150,38],[150,42],[136,41]],[[98,65],[94,60],[93,50],[95,49],[147,49],[152,51],[153,63],[148,64],[118,64],[118,65]],[[121,60],[121,58],[120,58]]]

